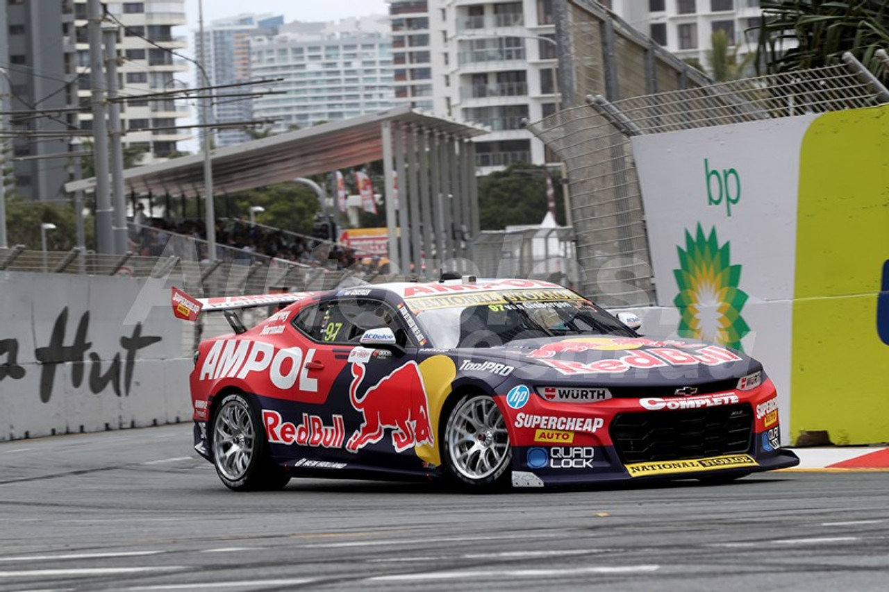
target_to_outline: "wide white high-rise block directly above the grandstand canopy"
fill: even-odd
[[[337,23],[293,22],[251,41],[253,79],[283,94],[253,100],[253,117],[274,120],[272,132],[347,119],[392,107],[388,16]]]

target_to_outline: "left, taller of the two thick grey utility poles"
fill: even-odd
[[[113,253],[111,198],[108,194],[108,126],[105,120],[105,68],[102,55],[102,4],[87,0],[87,34],[90,42],[90,87],[92,89],[92,149],[96,173],[96,246],[100,253]]]

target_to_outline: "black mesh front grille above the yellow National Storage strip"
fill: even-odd
[[[609,432],[625,464],[748,452],[753,409],[749,404],[738,404],[620,413]]]

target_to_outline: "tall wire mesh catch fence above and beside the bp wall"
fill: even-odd
[[[601,4],[566,0],[557,19],[563,104],[528,125],[565,163],[580,291],[605,306],[654,304],[645,212],[629,138],[885,102],[845,65],[714,84]],[[851,56],[850,56],[851,57]]]

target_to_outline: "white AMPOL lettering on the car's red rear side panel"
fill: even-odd
[[[318,381],[308,377],[306,364],[312,361],[315,349],[309,349],[303,357],[300,348],[275,351],[275,346],[262,341],[219,340],[213,342],[198,380],[215,380],[223,377],[244,379],[250,372],[267,372],[277,388],[292,388],[297,380],[300,390],[318,391]]]

